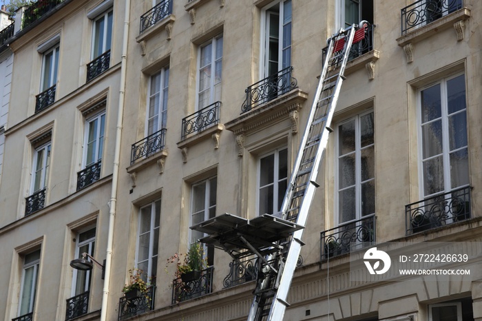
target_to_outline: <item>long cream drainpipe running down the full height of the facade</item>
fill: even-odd
[[[105,253],[105,278],[102,292],[101,321],[107,320],[107,302],[109,300],[110,264],[112,262],[112,244],[114,242],[114,219],[116,217],[117,185],[119,162],[121,158],[121,134],[124,116],[125,73],[127,67],[127,39],[129,37],[129,14],[131,1],[125,0],[124,32],[121,56],[121,84],[119,85],[119,105],[117,112],[116,145],[114,149],[114,164],[112,169],[112,190],[109,200],[109,230],[107,231],[107,249]]]

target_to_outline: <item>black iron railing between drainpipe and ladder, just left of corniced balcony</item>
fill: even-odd
[[[182,118],[182,134],[181,140],[186,139],[189,135],[201,132],[212,125],[219,123],[219,112],[221,102],[216,101],[207,107],[198,110],[185,118]]]

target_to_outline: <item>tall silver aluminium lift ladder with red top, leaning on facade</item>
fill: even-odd
[[[364,21],[360,25],[362,27],[359,30],[355,30],[357,25],[352,25],[328,39],[322,74],[282,204],[282,218],[300,226],[306,225],[315,189],[319,186],[315,179],[324,157],[328,135],[332,132],[331,119],[345,79],[344,70],[351,45],[364,39],[367,25]],[[277,245],[282,247],[282,250],[271,254],[267,260],[272,263],[258,267],[258,280],[254,291],[255,298],[249,311],[249,321],[283,320],[284,311],[289,306],[286,302],[289,287],[301,247],[304,245],[302,234],[303,229],[298,229],[289,238],[280,240]]]

